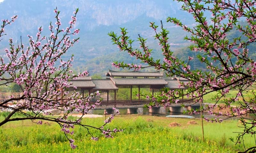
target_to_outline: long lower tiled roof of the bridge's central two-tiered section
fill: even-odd
[[[115,85],[166,85],[161,78],[110,78]]]

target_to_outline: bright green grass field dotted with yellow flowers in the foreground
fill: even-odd
[[[3,120],[4,117],[0,117]],[[202,141],[200,120],[193,119],[197,124],[188,125],[191,119],[166,118],[146,115],[120,115],[108,124],[111,129],[122,128],[114,138],[91,140],[85,129],[76,127],[75,139],[77,149],[69,147],[60,127],[55,123],[37,125],[31,121],[9,122],[0,127],[0,152],[12,153],[215,153],[237,152],[242,146],[235,145],[228,138],[235,137],[239,124],[236,120],[223,123],[204,122],[205,142]],[[84,118],[82,122],[100,126],[104,117]],[[172,122],[180,127],[169,127]],[[95,136],[101,133],[92,130]],[[255,146],[254,138],[245,139],[246,147]]]

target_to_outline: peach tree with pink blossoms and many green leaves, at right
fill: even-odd
[[[155,39],[161,47],[163,59],[154,59],[151,56],[153,49],[147,45],[146,38],[139,35],[138,40],[140,48],[133,47],[134,40],[128,36],[127,29],[121,28],[121,35],[110,32],[109,36],[120,51],[128,52],[131,56],[139,59],[148,66],[142,66],[136,63],[114,62],[113,66],[134,68],[139,70],[145,67],[154,67],[157,70],[163,70],[167,76],[178,76],[188,79],[188,83],[183,84],[188,87],[186,93],[181,90],[163,89],[158,96],[150,96],[151,106],[163,105],[170,106],[172,103],[179,103],[179,98],[188,96],[195,99],[196,102],[202,102],[203,96],[212,92],[217,92],[213,98],[215,105],[191,110],[191,113],[198,114],[207,110],[209,114],[216,116],[225,116],[226,119],[238,116],[243,123],[241,131],[236,139],[236,143],[244,143],[243,136],[251,135],[255,137],[255,115],[256,106],[255,87],[256,62],[250,56],[255,53],[256,40],[256,9],[254,0],[177,0],[183,3],[182,10],[192,14],[196,24],[187,26],[175,17],[168,17],[167,22],[182,27],[188,35],[184,38],[191,42],[190,50],[195,52],[196,56],[188,56],[187,60],[181,60],[174,56],[169,43],[169,31],[163,24],[159,28],[154,22],[150,22],[150,27],[155,31]],[[207,16],[210,14],[211,16]],[[244,24],[243,22],[246,22]],[[243,23],[243,24],[241,24]],[[231,30],[236,30],[239,34],[230,35]],[[192,70],[193,60],[198,59],[204,70]],[[236,91],[233,97],[226,95],[230,91]],[[252,97],[246,97],[246,92],[251,92]],[[218,105],[220,101],[225,102],[224,106]],[[239,107],[232,107],[232,103],[238,102]],[[213,111],[214,107],[219,109],[228,109]],[[252,116],[250,118],[249,116]],[[210,119],[211,122],[221,122],[222,119]],[[253,151],[253,146],[245,152]]]

